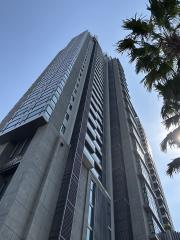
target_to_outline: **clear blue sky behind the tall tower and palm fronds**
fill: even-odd
[[[136,12],[146,15],[145,0],[1,0],[0,1],[0,120],[13,107],[52,58],[68,41],[88,29],[98,36],[104,52],[119,57],[134,107],[147,133],[176,230],[180,231],[180,174],[165,174],[169,159],[179,150],[160,151],[166,132],[161,125],[160,99],[139,84],[126,56],[114,44],[126,33],[122,20]]]

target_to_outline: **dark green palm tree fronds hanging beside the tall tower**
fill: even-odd
[[[163,99],[161,115],[167,129],[174,127],[161,143],[180,147],[180,2],[149,0],[149,17],[123,21],[129,34],[117,43],[120,53],[127,52],[135,62],[136,72],[142,72],[142,82],[148,91],[155,90]],[[168,164],[171,176],[180,170],[180,158]]]

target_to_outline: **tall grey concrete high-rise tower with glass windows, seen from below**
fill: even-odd
[[[0,125],[0,240],[150,240],[173,229],[118,59],[73,38]]]

